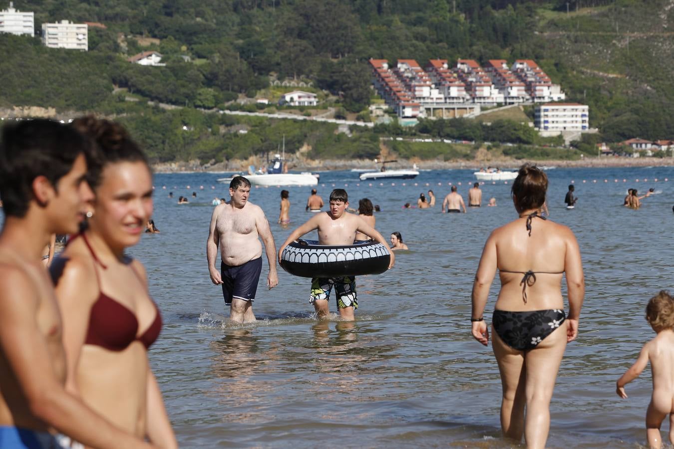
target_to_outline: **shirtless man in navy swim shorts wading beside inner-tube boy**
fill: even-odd
[[[276,246],[264,211],[248,202],[251,183],[243,176],[235,176],[229,184],[230,201],[213,210],[211,216],[206,258],[211,281],[222,285],[224,304],[231,306],[230,318],[236,322],[255,321],[253,300],[257,281],[262,272],[262,244],[264,242],[269,275],[267,286],[278,285],[276,275]],[[215,267],[220,246],[220,271]]]

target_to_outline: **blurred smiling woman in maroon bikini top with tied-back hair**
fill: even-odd
[[[121,429],[175,448],[148,362],[162,318],[145,268],[124,254],[140,241],[152,216],[152,174],[120,125],[85,117],[73,126],[92,137],[100,154],[89,170],[96,199],[88,229],[70,239],[53,270],[59,271],[66,387]]]

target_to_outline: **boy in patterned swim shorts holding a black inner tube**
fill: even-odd
[[[362,232],[368,237],[386,246],[391,253],[389,269],[394,265],[395,256],[384,237],[365,223],[358,215],[346,212],[348,207],[348,195],[343,188],[336,188],[330,193],[330,210],[317,213],[306,223],[294,230],[278,250],[280,263],[283,249],[301,236],[313,230],[318,230],[318,242],[321,245],[351,245],[356,232]],[[345,277],[314,277],[311,279],[311,294],[309,302],[313,304],[318,317],[326,318],[329,313],[330,291],[336,290],[337,308],[339,314],[345,320],[353,320],[353,312],[358,308],[358,296],[356,293],[355,276]]]

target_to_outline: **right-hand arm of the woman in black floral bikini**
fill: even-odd
[[[585,298],[585,278],[583,275],[583,263],[580,258],[580,248],[576,236],[566,228],[566,255],[564,258],[564,271],[569,296],[569,315],[567,316],[568,330],[566,341],[574,341],[578,335],[578,318],[580,308]]]

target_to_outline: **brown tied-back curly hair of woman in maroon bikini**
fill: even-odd
[[[150,170],[145,153],[119,123],[88,115],[75,118],[72,127],[95,144],[87,170],[87,180],[94,191],[100,186],[103,170],[109,164],[142,162]]]

